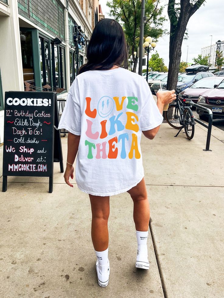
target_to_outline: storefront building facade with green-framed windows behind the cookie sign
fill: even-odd
[[[98,0],[0,0],[0,143],[5,91],[66,99],[99,19]]]

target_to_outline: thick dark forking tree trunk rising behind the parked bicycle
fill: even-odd
[[[167,89],[176,89],[180,66],[181,45],[191,16],[205,0],[169,0],[168,16],[170,19],[170,49]]]

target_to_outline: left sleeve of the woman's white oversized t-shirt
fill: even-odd
[[[79,92],[77,81],[73,82],[68,91],[67,100],[58,128],[65,128],[72,134],[81,135],[81,109],[79,104]]]

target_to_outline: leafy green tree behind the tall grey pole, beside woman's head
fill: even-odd
[[[145,0],[145,28],[144,37],[151,36],[153,41],[166,33],[163,23],[166,18],[162,15],[161,0]],[[119,22],[125,34],[128,53],[133,57],[133,72],[136,72],[138,57],[134,55],[139,46],[141,23],[141,0],[110,0],[107,6],[110,8],[110,16]]]

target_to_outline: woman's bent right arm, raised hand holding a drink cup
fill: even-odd
[[[171,103],[173,100],[176,99],[177,96],[175,94],[175,90],[171,90],[167,92],[157,92],[156,97],[157,97],[157,107],[159,109],[159,112],[163,115],[164,105],[166,103]],[[152,140],[154,139],[157,132],[159,131],[159,127],[160,125],[153,129],[142,131],[142,133],[144,134],[145,137],[147,137],[147,139]]]

